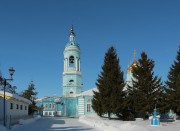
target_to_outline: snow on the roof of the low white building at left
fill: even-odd
[[[4,91],[0,90],[0,96],[3,97],[3,95],[4,95]],[[19,96],[17,94],[12,94],[12,93],[9,93],[9,92],[5,92],[5,95],[6,95],[6,97],[15,98],[18,101],[22,101],[22,102],[25,102],[25,103],[28,103],[28,104],[32,103],[30,100],[28,100],[28,99],[26,99],[24,97],[21,97],[21,96]]]

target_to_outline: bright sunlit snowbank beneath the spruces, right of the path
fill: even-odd
[[[180,121],[161,122],[159,126],[151,126],[149,120],[119,121],[100,118],[96,114],[81,116],[79,121],[100,131],[179,131]]]

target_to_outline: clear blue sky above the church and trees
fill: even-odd
[[[63,50],[73,24],[83,90],[95,87],[110,46],[124,74],[136,49],[166,80],[180,45],[179,7],[179,0],[0,0],[0,71],[8,78],[15,68],[17,92],[33,80],[38,97],[62,95]]]

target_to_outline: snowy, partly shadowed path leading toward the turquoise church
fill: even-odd
[[[10,131],[98,131],[80,123],[78,118],[42,117],[35,122],[19,125]]]

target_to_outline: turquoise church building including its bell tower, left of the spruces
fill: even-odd
[[[79,117],[93,113],[93,90],[82,92],[82,73],[80,62],[80,46],[75,41],[73,26],[70,30],[69,41],[64,49],[64,70],[62,73],[62,96],[44,97],[36,100],[40,108],[38,114],[43,116]]]

